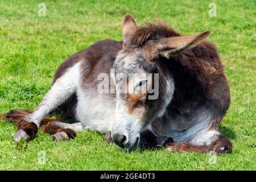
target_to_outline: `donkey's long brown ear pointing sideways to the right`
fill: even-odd
[[[210,34],[209,31],[195,36],[176,36],[160,40],[151,40],[144,46],[144,50],[149,53],[152,59],[160,56],[170,58],[171,55],[181,52],[184,49],[197,46]]]

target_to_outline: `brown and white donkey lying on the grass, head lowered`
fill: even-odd
[[[205,40],[210,32],[183,36],[162,20],[137,27],[129,14],[122,32],[123,42],[101,40],[65,60],[34,111],[5,114],[18,123],[14,140],[30,140],[39,128],[55,140],[91,129],[129,151],[160,145],[170,151],[231,152],[232,142],[218,132],[230,105],[229,86],[216,47]],[[110,77],[115,92],[98,92],[100,73]],[[118,80],[118,73],[137,76]],[[144,76],[150,73],[158,80]],[[141,92],[148,86],[158,87],[157,99]],[[47,117],[55,113],[68,122]]]

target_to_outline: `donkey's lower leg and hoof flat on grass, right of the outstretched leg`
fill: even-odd
[[[84,130],[81,123],[62,123],[62,122],[49,122],[47,125],[40,127],[44,132],[51,134],[53,140],[63,141],[73,139],[76,137],[77,131]]]

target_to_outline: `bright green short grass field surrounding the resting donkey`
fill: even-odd
[[[84,131],[66,142],[52,142],[39,131],[31,142],[15,146],[14,123],[0,121],[0,169],[14,170],[255,170],[256,143],[256,1],[42,1],[0,2],[0,113],[34,109],[68,56],[97,40],[122,40],[126,13],[143,21],[165,20],[185,35],[212,32],[232,93],[232,104],[220,131],[233,142],[233,153],[210,155],[137,150],[125,153],[106,144],[102,134]],[[38,163],[39,151],[46,164]]]

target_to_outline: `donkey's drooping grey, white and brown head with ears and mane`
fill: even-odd
[[[162,21],[137,27],[133,16],[125,16],[123,49],[112,74],[117,94],[112,138],[118,146],[135,150],[140,133],[164,113],[172,99],[174,82],[159,63],[171,61],[172,55],[196,46],[208,35],[181,36]]]

